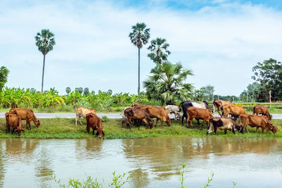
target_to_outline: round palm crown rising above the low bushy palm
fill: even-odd
[[[170,51],[168,51],[169,44],[166,43],[166,39],[157,38],[151,41],[148,49],[151,51],[148,57],[155,63],[161,64],[161,61],[166,61]]]

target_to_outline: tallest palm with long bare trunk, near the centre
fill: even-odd
[[[145,23],[137,23],[132,26],[133,32],[130,32],[130,41],[138,48],[138,95],[140,94],[140,49],[143,44],[147,44],[149,40],[149,28]]]

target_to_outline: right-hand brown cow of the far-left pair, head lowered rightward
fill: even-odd
[[[22,120],[26,120],[26,127],[29,130],[31,130],[31,125],[30,122],[33,121],[35,123],[36,127],[40,127],[40,120],[38,120],[35,117],[35,113],[31,109],[26,109],[26,108],[12,108],[10,110],[10,113],[15,113],[16,115],[20,116]],[[29,125],[29,126],[28,126]]]

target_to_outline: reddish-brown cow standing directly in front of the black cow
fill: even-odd
[[[190,123],[192,128],[193,128],[192,120],[194,118],[196,120],[203,120],[202,127],[204,126],[204,123],[207,123],[208,125],[209,120],[214,118],[214,116],[212,116],[212,113],[211,111],[209,111],[209,109],[197,108],[194,106],[190,106],[187,108],[187,117],[188,117],[187,118],[187,127],[189,127],[189,123]]]

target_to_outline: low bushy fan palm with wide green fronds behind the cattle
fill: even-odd
[[[152,68],[143,86],[147,89],[148,99],[159,100],[163,104],[171,103],[176,99],[185,101],[190,98],[192,84],[185,83],[188,75],[193,75],[191,70],[183,68],[181,63],[164,61]]]

